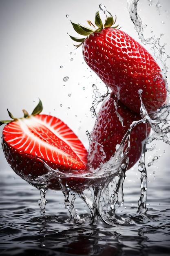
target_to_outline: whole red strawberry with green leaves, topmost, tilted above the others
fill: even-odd
[[[100,9],[106,14],[103,25],[97,11],[91,28],[72,23],[76,32],[86,38],[71,38],[83,45],[82,52],[87,65],[111,88],[122,103],[138,112],[142,101],[148,114],[163,106],[167,97],[166,82],[161,69],[147,50],[124,31],[111,27],[113,16],[103,4]],[[79,46],[77,45],[77,47]]]

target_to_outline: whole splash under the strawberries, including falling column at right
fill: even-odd
[[[139,90],[141,99],[142,90]],[[101,97],[102,98],[102,97]],[[141,120],[133,121],[129,130],[124,135],[119,148],[117,148],[113,157],[99,168],[90,169],[87,172],[71,171],[62,172],[54,170],[44,162],[45,168],[48,170],[46,175],[31,179],[30,177],[22,177],[31,183],[33,186],[40,189],[41,200],[40,208],[42,214],[45,214],[45,193],[48,188],[56,190],[56,184],[60,184],[60,189],[64,194],[64,204],[70,218],[68,222],[74,223],[94,223],[97,224],[103,220],[109,225],[117,223],[132,223],[131,219],[125,219],[117,213],[117,209],[124,204],[123,183],[125,180],[125,173],[128,168],[129,159],[127,157],[130,143],[124,152],[124,143],[129,141],[131,130],[141,122],[148,122],[152,128],[152,135],[144,144],[143,153],[139,161],[138,170],[141,173],[141,196],[138,202],[137,216],[146,215],[146,199],[147,199],[147,171],[145,164],[146,152],[153,150],[150,146],[153,140],[163,140],[170,144],[170,104],[161,107],[157,113],[149,116],[144,104],[141,101]],[[88,134],[89,135],[89,134]],[[90,139],[90,135],[89,135]],[[157,161],[155,156],[148,164],[151,166],[153,162]],[[55,182],[52,182],[55,181]],[[53,186],[51,186],[53,184]],[[75,196],[80,198],[87,204],[90,209],[91,216],[86,219],[81,219],[74,208]]]

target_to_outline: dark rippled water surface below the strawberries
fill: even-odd
[[[127,172],[125,202],[119,208],[134,222],[110,226],[101,220],[96,225],[68,223],[61,191],[47,191],[46,216],[41,215],[38,189],[7,166],[0,171],[0,255],[170,255],[170,170],[153,173],[149,168],[146,216],[136,216],[140,173],[134,168]],[[78,196],[74,206],[81,218],[88,218],[88,207]]]

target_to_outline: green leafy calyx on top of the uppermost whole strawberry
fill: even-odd
[[[88,25],[90,25],[91,28],[84,27],[80,24],[75,24],[75,23],[71,22],[71,24],[73,25],[74,30],[78,34],[80,34],[82,36],[89,36],[90,34],[93,34],[93,33],[99,33],[104,28],[112,27],[112,28],[116,29],[119,26],[119,25],[113,26],[116,22],[116,18],[115,18],[115,20],[113,19],[113,16],[111,15],[110,12],[108,12],[106,10],[106,7],[104,6],[104,4],[100,4],[99,7],[100,7],[100,10],[97,11],[96,15],[95,15],[95,25],[97,26],[97,29],[96,29],[95,25],[93,25],[93,23],[90,20],[87,20],[87,22],[88,22]],[[106,14],[106,19],[105,19],[104,24],[102,22],[102,19],[100,18],[100,14],[99,14],[100,11],[103,11]],[[86,38],[77,38],[77,37],[73,37],[73,36],[70,36],[70,37],[75,42],[80,43],[79,45],[74,45],[76,47],[79,47],[80,45],[82,45],[82,43],[86,39]]]

